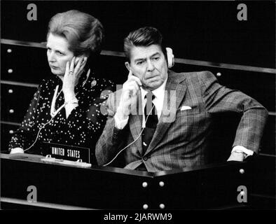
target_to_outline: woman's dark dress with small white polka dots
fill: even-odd
[[[57,76],[43,80],[34,94],[34,99],[29,105],[22,124],[13,134],[9,150],[16,147],[25,150],[32,146],[39,129],[48,123],[39,133],[38,144],[46,141],[92,148],[94,151],[97,139],[102,134],[106,123],[106,116],[102,113],[104,110],[101,106],[104,106],[103,102],[107,99],[108,94],[114,91],[115,85],[110,80],[94,78],[93,76],[94,74],[90,73],[87,78],[86,73],[83,73],[83,76],[78,80],[78,85],[75,87],[78,106],[71,111],[69,117],[66,118],[63,108],[50,123],[48,123],[52,118],[50,108],[57,85],[59,85],[58,92],[60,94],[55,103],[55,110],[64,104],[62,80]],[[38,148],[36,144],[26,153],[41,154],[41,150]]]

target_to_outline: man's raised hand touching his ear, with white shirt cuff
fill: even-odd
[[[132,71],[128,74],[127,80],[123,83],[123,90],[120,97],[120,104],[116,111],[116,116],[120,120],[125,120],[130,115],[132,106],[136,106],[137,93],[139,87],[142,86],[141,80],[132,75]]]

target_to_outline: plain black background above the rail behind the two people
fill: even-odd
[[[27,20],[29,3],[37,21]],[[239,3],[247,5],[247,21],[237,20]],[[71,9],[102,22],[104,50],[123,51],[131,30],[153,26],[175,57],[275,68],[273,1],[1,1],[1,38],[46,41],[50,18]]]

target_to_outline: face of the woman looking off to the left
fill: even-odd
[[[47,40],[47,57],[50,69],[57,76],[64,76],[66,63],[74,57],[74,52],[68,49],[66,38],[49,34]]]

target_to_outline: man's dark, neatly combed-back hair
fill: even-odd
[[[167,53],[165,47],[163,47],[163,36],[154,27],[142,27],[137,30],[131,31],[130,34],[124,39],[124,51],[125,57],[130,62],[130,51],[135,47],[148,47],[149,45],[160,45],[165,58],[167,59]]]

